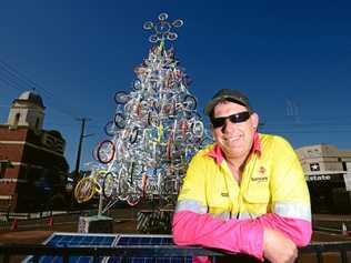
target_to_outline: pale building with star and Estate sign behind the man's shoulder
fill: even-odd
[[[295,151],[309,185],[313,212],[351,213],[351,151],[330,144]]]

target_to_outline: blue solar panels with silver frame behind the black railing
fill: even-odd
[[[147,235],[147,234],[106,234],[106,233],[66,233],[54,232],[42,244],[53,247],[89,247],[89,246],[143,246],[143,245],[173,245],[171,235]],[[70,263],[91,263],[92,256],[70,256]],[[33,256],[27,256],[24,263],[32,263]],[[60,256],[40,256],[39,263],[62,262]],[[101,263],[121,263],[121,256],[101,256]],[[129,263],[191,263],[192,257],[131,257]]]

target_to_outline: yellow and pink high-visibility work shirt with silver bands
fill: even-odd
[[[191,220],[183,222],[185,216]],[[262,257],[263,227],[281,231],[298,245],[310,241],[310,196],[291,145],[281,136],[257,133],[240,184],[218,144],[199,151],[189,164],[178,198],[174,242]]]

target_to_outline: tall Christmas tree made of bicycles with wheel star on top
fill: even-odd
[[[176,202],[190,159],[208,139],[189,91],[191,79],[174,49],[166,47],[182,26],[181,19],[169,22],[167,13],[143,24],[152,32],[152,47],[134,69],[131,91],[114,94],[113,120],[104,127],[108,139],[94,148],[92,173],[74,189],[78,202],[99,193],[106,201],[102,213],[117,201],[136,205],[157,195],[163,204]]]

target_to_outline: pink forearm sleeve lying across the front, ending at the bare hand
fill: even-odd
[[[263,259],[263,227],[257,220],[222,221],[190,211],[173,216],[173,240],[179,245],[202,245]]]

